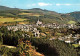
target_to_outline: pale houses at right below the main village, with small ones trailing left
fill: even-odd
[[[65,43],[74,43],[74,44],[79,44],[80,45],[80,34],[76,35],[67,35],[67,36],[59,36],[58,38],[52,37],[50,40],[58,39],[60,41],[64,41]]]

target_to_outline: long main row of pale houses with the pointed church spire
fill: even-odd
[[[41,21],[37,21],[37,23],[34,25],[27,25],[27,24],[18,24],[16,26],[7,26],[7,29],[8,30],[13,30],[13,31],[18,31],[18,30],[21,30],[21,31],[30,31],[30,30],[33,30],[34,28],[36,28],[37,26],[40,26],[40,27],[47,27],[47,28],[78,28],[78,26],[76,26],[75,24],[56,24],[56,23],[52,23],[52,24],[43,24]]]

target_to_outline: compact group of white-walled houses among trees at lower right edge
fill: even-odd
[[[76,35],[70,34],[70,35],[67,35],[67,36],[64,36],[64,37],[60,36],[58,39],[61,40],[61,41],[66,42],[66,43],[75,43],[75,44],[77,44],[79,42],[78,39],[80,39],[80,35],[79,34],[76,34]]]

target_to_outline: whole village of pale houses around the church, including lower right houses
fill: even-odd
[[[16,26],[7,26],[7,29],[8,30],[13,30],[13,31],[20,30],[20,31],[25,31],[25,32],[32,31],[35,37],[40,37],[40,34],[43,34],[43,33],[41,33],[37,29],[38,26],[40,26],[40,27],[47,27],[47,28],[51,28],[51,29],[55,29],[55,28],[57,28],[57,29],[59,29],[59,28],[72,28],[72,29],[75,29],[75,28],[78,28],[79,27],[79,26],[76,26],[75,24],[56,24],[56,23],[43,24],[38,19],[38,21],[37,21],[36,24],[32,24],[32,25],[28,25],[28,24],[17,24]],[[29,36],[29,35],[26,34],[26,36]],[[76,43],[76,41],[77,41],[77,39],[79,39],[79,37],[80,37],[79,34],[76,34],[75,36],[73,36],[72,34],[70,34],[70,35],[67,35],[67,36],[64,36],[64,37],[59,36],[58,39],[61,40],[61,41],[66,42],[66,43],[73,43],[73,42]],[[55,39],[55,38],[51,38],[50,40],[53,40],[53,39]]]

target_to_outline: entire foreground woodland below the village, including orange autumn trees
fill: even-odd
[[[43,54],[44,56],[79,56],[79,47],[75,48],[71,44],[67,44],[60,40],[49,40],[51,36],[47,38],[29,38],[23,37],[22,34],[26,32],[22,31],[8,31],[6,27],[1,27],[0,29],[0,46],[9,45],[14,46],[14,48],[0,47],[0,54],[7,56],[19,56],[25,53],[25,55],[31,55],[31,52],[27,48],[32,48],[37,52]],[[30,41],[29,44],[26,41]],[[25,45],[24,45],[24,44]],[[29,47],[29,45],[31,47]],[[21,47],[21,49],[19,49]],[[25,50],[26,49],[26,50]],[[25,50],[25,51],[24,51]],[[14,55],[13,55],[14,54]],[[33,53],[34,54],[34,53]]]

